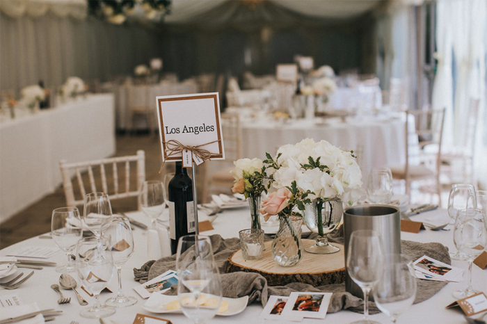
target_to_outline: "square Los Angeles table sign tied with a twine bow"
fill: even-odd
[[[203,163],[205,154],[210,160],[225,159],[218,92],[156,99],[162,161],[182,161],[187,168],[192,161]]]

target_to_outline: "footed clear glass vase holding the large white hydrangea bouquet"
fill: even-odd
[[[342,200],[314,200],[305,204],[303,220],[311,232],[318,234],[316,244],[305,248],[306,252],[314,254],[332,254],[340,251],[335,245],[328,243],[326,234],[333,232],[343,216]]]

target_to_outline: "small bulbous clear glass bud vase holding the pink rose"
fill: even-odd
[[[303,257],[301,225],[299,216],[278,216],[279,229],[272,241],[272,258],[280,266],[296,266]]]

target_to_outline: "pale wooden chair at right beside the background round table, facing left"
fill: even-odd
[[[406,163],[390,165],[392,178],[406,181],[410,197],[413,181],[429,182],[420,190],[438,195],[441,204],[440,154],[445,108],[406,111]],[[424,147],[437,147],[434,151]]]

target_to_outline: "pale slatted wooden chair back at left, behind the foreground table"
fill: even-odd
[[[130,164],[136,165],[136,186],[130,184]],[[125,179],[120,183],[118,177],[118,168],[124,168]],[[113,181],[113,185],[109,186],[107,181],[106,167],[111,168],[111,177],[109,180]],[[87,193],[86,186],[81,177],[82,172],[88,170],[89,187],[88,193],[96,193],[103,191],[109,194],[110,200],[119,200],[128,197],[137,197],[138,191],[141,188],[143,181],[145,181],[145,152],[138,150],[136,155],[119,156],[109,159],[100,159],[93,161],[84,161],[77,163],[67,163],[65,160],[59,161],[61,168],[61,175],[63,176],[63,188],[66,197],[67,206],[79,206],[84,202],[84,197]],[[99,168],[99,178],[95,181],[95,170]],[[75,197],[72,176],[75,175],[79,187],[79,199]],[[97,187],[97,183],[101,182],[101,190]],[[113,187],[113,188],[109,188]],[[122,188],[124,187],[124,188]],[[140,206],[139,206],[140,207]],[[140,209],[140,208],[139,208]]]

